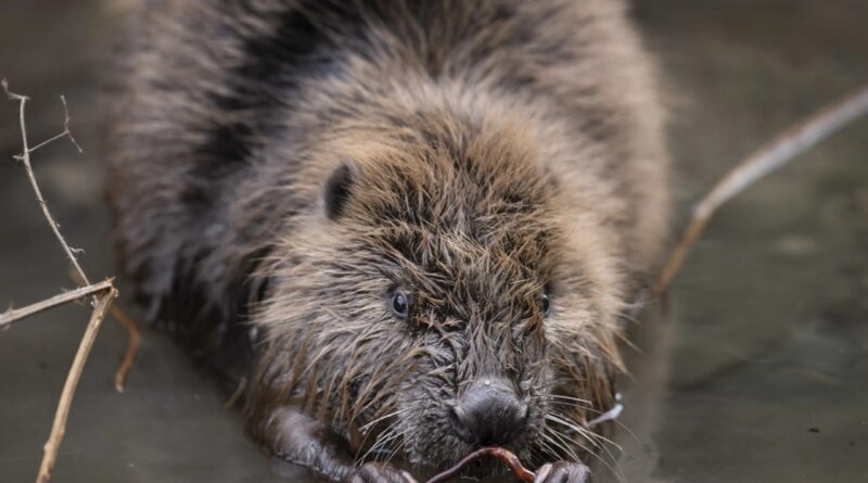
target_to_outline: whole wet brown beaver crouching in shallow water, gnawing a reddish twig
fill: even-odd
[[[149,319],[250,371],[264,448],[394,482],[393,456],[501,445],[585,481],[667,219],[623,1],[154,0],[123,66],[123,272]]]

